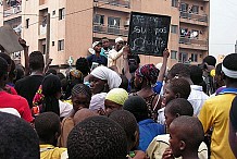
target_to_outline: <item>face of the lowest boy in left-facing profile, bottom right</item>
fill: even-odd
[[[182,156],[182,140],[178,138],[178,130],[177,126],[171,123],[170,125],[170,147],[175,158]]]

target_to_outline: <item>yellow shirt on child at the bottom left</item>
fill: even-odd
[[[66,148],[59,148],[52,145],[39,145],[40,148],[40,159],[61,159],[61,154],[66,150]]]

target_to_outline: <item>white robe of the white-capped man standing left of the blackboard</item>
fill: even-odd
[[[109,51],[108,54],[108,68],[116,65],[117,68],[121,68],[121,62],[123,61],[122,54],[123,54],[123,48],[117,52],[115,49],[112,49]],[[120,63],[118,63],[120,62]]]

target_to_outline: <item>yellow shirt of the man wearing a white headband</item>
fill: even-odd
[[[213,127],[211,159],[235,159],[228,144],[229,109],[235,94],[219,95],[208,99],[199,114],[204,132]]]

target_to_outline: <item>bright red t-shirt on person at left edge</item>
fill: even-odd
[[[14,108],[24,120],[27,122],[33,121],[32,111],[28,107],[27,100],[18,95],[0,91],[0,108]]]

